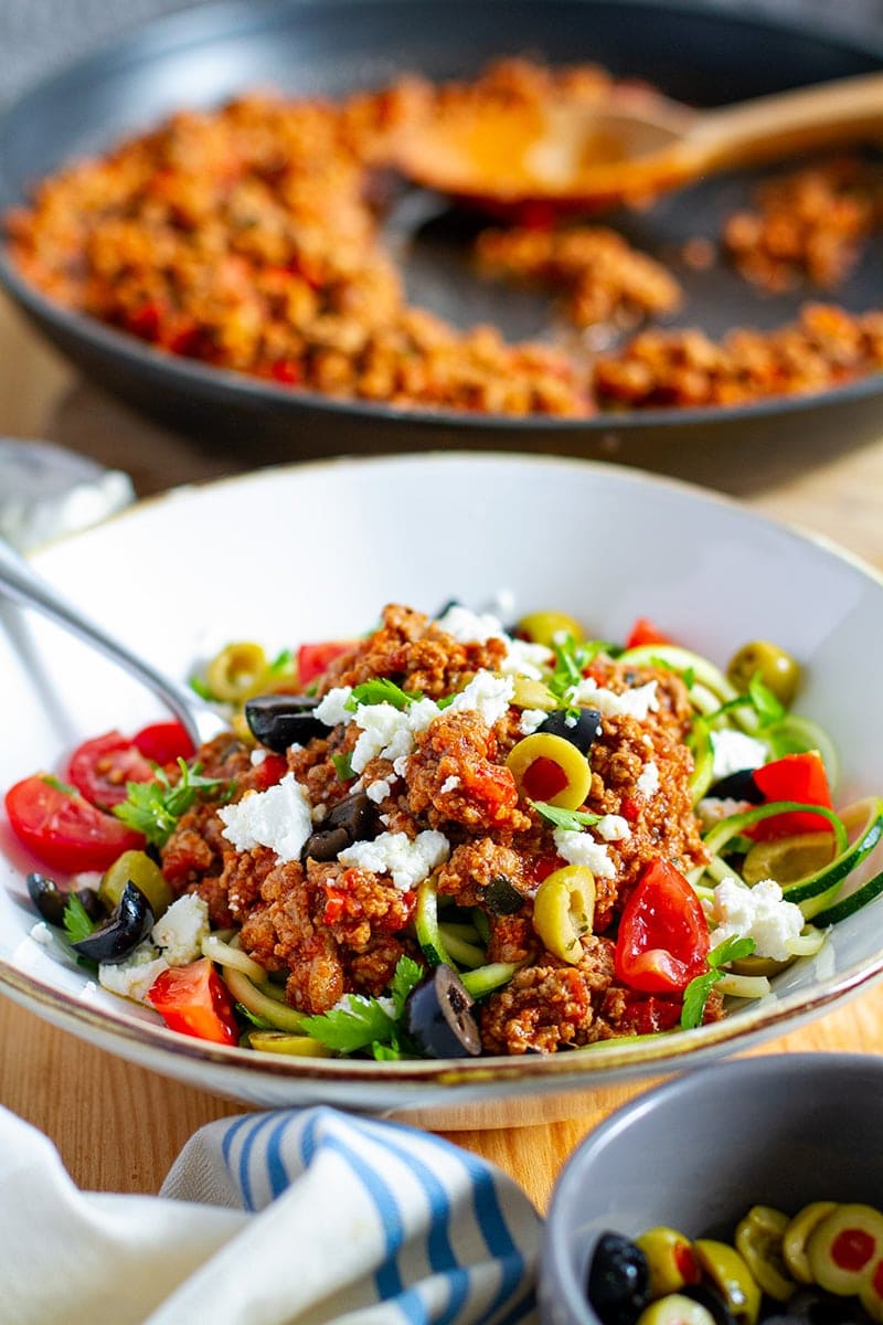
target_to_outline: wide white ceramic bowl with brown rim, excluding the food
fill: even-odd
[[[834,733],[841,804],[883,790],[883,583],[829,546],[680,484],[588,461],[515,456],[340,460],[177,490],[45,549],[37,567],[93,617],[184,678],[230,639],[267,648],[360,631],[388,602],[436,611],[555,607],[622,637],[649,615],[725,662],[772,637],[806,666],[801,712]],[[0,604],[0,787],[57,768],[82,738],[135,730],[156,701],[50,623]],[[735,1052],[883,970],[883,900],[837,928],[776,994],[676,1036],[549,1057],[455,1063],[295,1060],[172,1034],[97,990],[30,937],[29,867],[0,829],[0,988],[159,1072],[259,1105],[323,1100],[421,1110],[441,1126],[576,1113],[585,1092]]]

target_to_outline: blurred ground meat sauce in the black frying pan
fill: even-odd
[[[9,252],[49,298],[167,352],[402,408],[585,417],[741,404],[878,371],[876,311],[810,307],[778,331],[723,343],[700,330],[631,337],[678,306],[678,282],[614,231],[561,227],[548,208],[479,236],[477,277],[557,292],[581,333],[573,352],[510,344],[492,326],[458,331],[406,302],[381,242],[401,135],[470,106],[539,113],[551,98],[592,105],[622,86],[594,65],[500,60],[471,82],[406,77],[340,103],[253,94],[181,111],[46,179],[5,217]],[[879,170],[823,166],[770,184],[756,211],[728,221],[721,250],[770,290],[804,277],[831,288],[879,227]],[[714,258],[703,240],[688,252],[698,266]]]

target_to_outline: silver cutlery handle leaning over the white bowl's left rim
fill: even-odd
[[[30,607],[48,616],[134,676],[167,705],[196,746],[228,729],[229,723],[216,709],[200,700],[193,690],[158,672],[150,662],[109,635],[103,627],[85,616],[49,580],[38,575],[4,538],[0,538],[0,594],[19,607]]]

